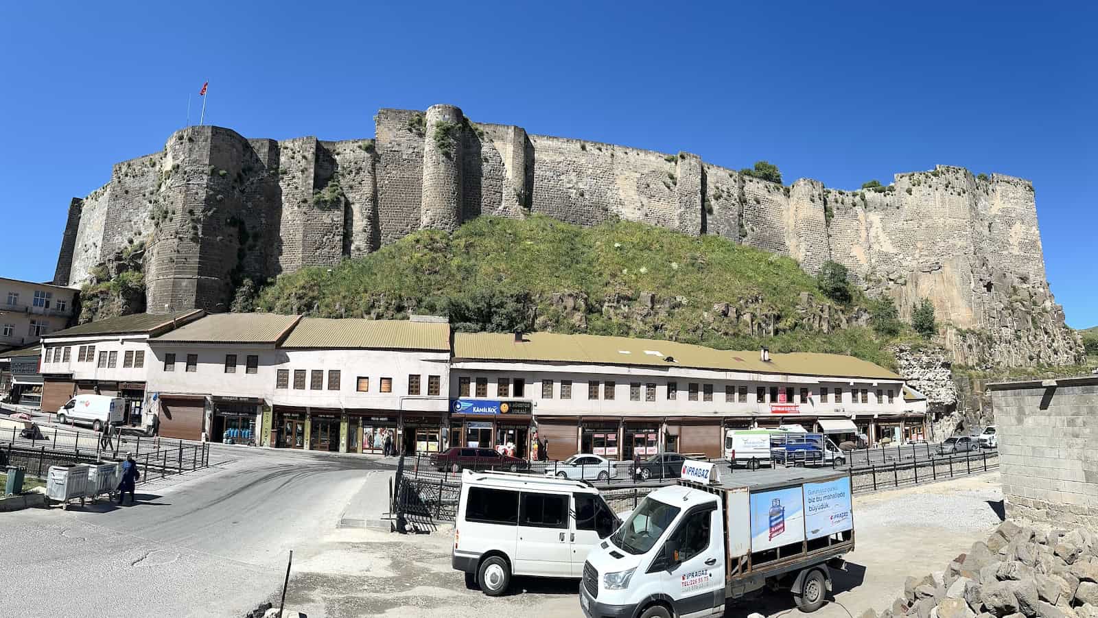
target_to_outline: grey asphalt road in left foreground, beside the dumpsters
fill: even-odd
[[[8,616],[235,616],[280,589],[287,558],[329,535],[391,467],[246,449],[137,490],[137,504],[0,514]]]

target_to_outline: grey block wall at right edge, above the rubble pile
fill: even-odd
[[[991,384],[1007,517],[1098,529],[1098,378]]]

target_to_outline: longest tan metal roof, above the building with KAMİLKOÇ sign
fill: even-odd
[[[750,371],[834,378],[901,380],[892,371],[854,357],[817,352],[772,353],[763,362],[759,350],[717,350],[704,346],[607,337],[528,333],[515,341],[511,333],[458,333],[455,360],[541,361],[638,367],[683,367],[718,371]],[[673,361],[671,359],[674,359]]]

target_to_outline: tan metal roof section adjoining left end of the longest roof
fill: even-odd
[[[282,348],[450,350],[450,325],[411,319],[303,317]]]

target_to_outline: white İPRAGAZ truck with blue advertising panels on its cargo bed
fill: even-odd
[[[677,485],[648,494],[587,554],[580,606],[589,618],[722,616],[726,600],[770,585],[815,611],[830,568],[853,549],[847,473],[778,468],[721,481],[718,465],[687,461]]]

